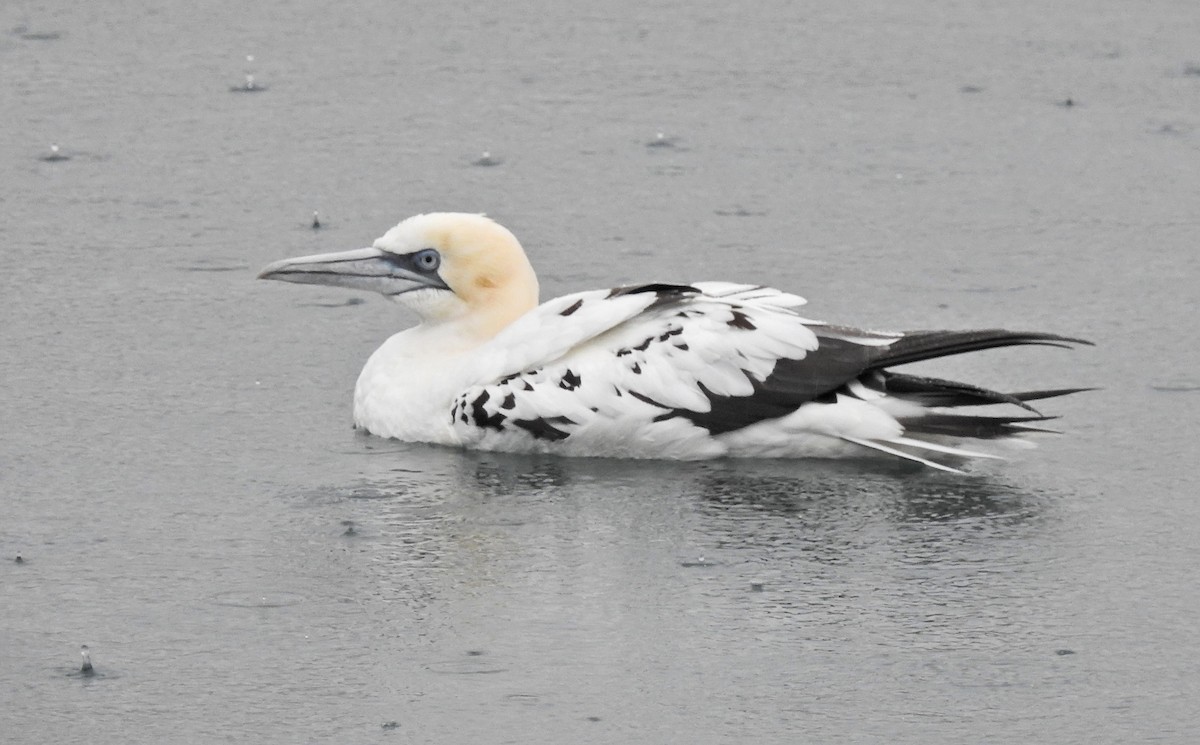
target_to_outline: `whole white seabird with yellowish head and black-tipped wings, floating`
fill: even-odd
[[[1030,402],[1090,390],[1001,392],[893,370],[1081,338],[857,329],[758,284],[647,282],[539,302],[520,241],[485,215],[416,215],[371,247],[277,260],[258,278],[374,292],[416,314],[354,390],[355,427],[402,441],[656,459],[886,453],[964,473],[1001,457],[971,443],[1052,432]],[[974,409],[994,404],[1010,410]]]

